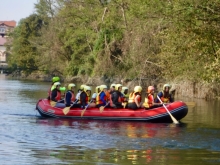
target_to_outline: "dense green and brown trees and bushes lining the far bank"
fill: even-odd
[[[9,34],[11,72],[169,82],[220,96],[219,0],[39,0]]]

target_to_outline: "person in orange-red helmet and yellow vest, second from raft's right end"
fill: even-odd
[[[153,86],[149,86],[147,88],[147,92],[146,92],[146,95],[145,95],[145,100],[144,100],[144,103],[143,103],[143,107],[145,109],[151,109],[151,108],[156,108],[156,107],[159,107],[159,106],[162,106],[163,104],[161,103],[155,103],[154,102],[154,87]]]

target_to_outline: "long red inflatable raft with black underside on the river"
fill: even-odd
[[[176,101],[166,105],[169,112],[177,120],[181,120],[188,113],[188,107],[182,101]],[[161,106],[158,108],[145,110],[131,110],[131,109],[111,109],[105,108],[100,112],[99,108],[87,108],[83,116],[81,108],[71,108],[68,114],[63,113],[62,108],[52,107],[49,100],[40,99],[37,103],[36,109],[42,117],[53,118],[74,118],[74,119],[99,119],[99,120],[130,120],[130,121],[147,121],[147,122],[172,122],[170,115],[166,109]]]

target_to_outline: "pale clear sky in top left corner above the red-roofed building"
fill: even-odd
[[[34,13],[38,0],[0,0],[0,21],[16,21]]]

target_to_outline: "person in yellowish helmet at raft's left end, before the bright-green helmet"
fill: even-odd
[[[64,103],[61,103],[63,100],[61,100],[60,82],[55,82],[53,86],[54,87],[53,87],[53,90],[51,91],[51,97],[50,97],[51,101],[56,102],[55,107],[58,107],[58,108],[66,107]]]

